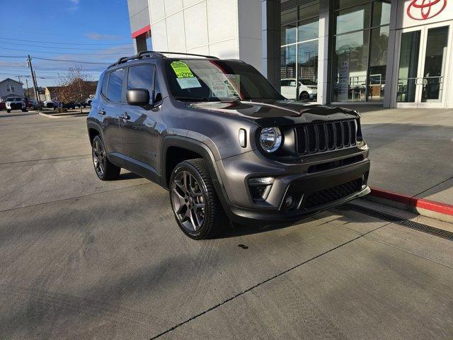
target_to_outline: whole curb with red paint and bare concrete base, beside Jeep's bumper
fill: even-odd
[[[394,208],[415,212],[418,215],[432,217],[445,222],[453,222],[453,205],[447,203],[425,200],[416,196],[406,196],[374,187],[371,187],[371,193],[365,198]]]

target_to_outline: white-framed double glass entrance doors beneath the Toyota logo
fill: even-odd
[[[451,25],[445,23],[399,31],[396,107],[445,106],[451,31]]]

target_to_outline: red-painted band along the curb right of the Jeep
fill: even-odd
[[[393,191],[386,191],[384,189],[374,187],[371,188],[370,195],[384,198],[386,200],[393,200],[398,203],[403,203],[409,205],[411,208],[420,208],[453,216],[453,205],[447,203],[440,203],[434,200],[425,200],[424,198],[401,195],[401,193],[394,193]]]

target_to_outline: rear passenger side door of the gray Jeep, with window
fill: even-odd
[[[107,77],[107,78],[105,78]],[[113,157],[121,158],[124,153],[120,135],[120,115],[124,112],[123,88],[125,69],[115,69],[104,77],[107,84],[101,89],[101,101],[98,114],[103,126],[103,142],[106,152]],[[103,84],[104,85],[104,84]]]

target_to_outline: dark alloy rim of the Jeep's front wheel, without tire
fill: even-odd
[[[176,217],[185,229],[194,232],[205,220],[205,196],[200,183],[189,171],[181,171],[171,183],[171,201]]]

